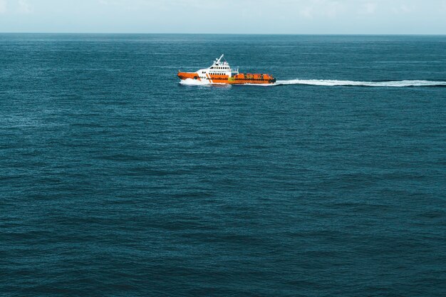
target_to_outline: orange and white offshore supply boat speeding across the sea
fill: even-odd
[[[238,67],[231,68],[226,60],[222,61],[223,56],[215,59],[209,68],[200,69],[196,72],[178,71],[178,77],[180,80],[190,79],[217,85],[266,85],[276,83],[276,78],[270,74],[239,73]]]

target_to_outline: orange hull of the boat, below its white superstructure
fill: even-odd
[[[269,74],[251,74],[251,73],[239,73],[229,78],[228,75],[199,75],[195,72],[179,72],[178,77],[181,80],[193,79],[198,81],[205,81],[214,84],[225,84],[225,85],[244,85],[244,84],[257,84],[265,85],[276,83],[276,78]]]

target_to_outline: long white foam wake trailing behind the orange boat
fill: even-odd
[[[445,85],[446,81],[434,81],[434,80],[390,80],[390,81],[353,81],[353,80],[277,80],[275,85],[353,85],[364,87],[432,87]]]

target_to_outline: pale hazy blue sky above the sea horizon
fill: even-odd
[[[0,32],[446,34],[446,0],[0,0]]]

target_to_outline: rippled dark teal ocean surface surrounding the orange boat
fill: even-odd
[[[182,85],[231,66],[278,82]],[[0,34],[0,296],[446,296],[446,36]]]

